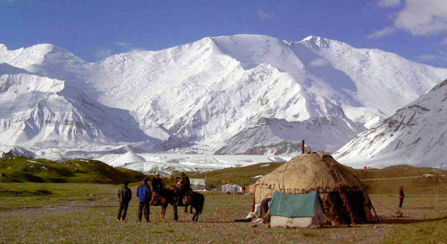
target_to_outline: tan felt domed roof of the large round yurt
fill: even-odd
[[[333,171],[332,171],[333,170]],[[335,175],[335,176],[334,176]],[[336,191],[343,187],[363,191],[365,185],[346,166],[322,152],[309,152],[260,178],[255,183],[255,202],[272,197],[275,190],[289,194]]]

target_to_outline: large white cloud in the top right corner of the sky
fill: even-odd
[[[394,26],[418,36],[447,32],[447,0],[406,0]]]

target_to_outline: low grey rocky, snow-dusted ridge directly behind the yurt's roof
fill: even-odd
[[[298,155],[298,138],[309,139],[309,149],[335,152],[365,127],[343,116],[321,116],[305,121],[258,120],[257,124],[231,137],[216,154]],[[309,150],[307,150],[309,151]]]

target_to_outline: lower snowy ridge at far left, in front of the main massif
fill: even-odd
[[[0,143],[34,147],[145,141],[128,111],[88,99],[65,81],[0,75]]]

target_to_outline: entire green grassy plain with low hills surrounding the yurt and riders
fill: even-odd
[[[127,172],[130,175],[122,175],[118,169],[99,161],[55,163],[30,160],[38,162],[35,163],[28,160],[0,162],[0,172],[10,177],[8,181],[3,179],[3,183],[0,182],[0,243],[447,244],[447,177],[442,176],[446,171],[406,165],[382,170],[352,169],[360,179],[425,176],[365,181],[381,221],[379,224],[290,230],[267,229],[264,224],[233,222],[244,219],[251,210],[252,195],[216,192],[204,193],[205,208],[198,222],[191,222],[192,215],[183,213],[183,208],[179,209],[180,221],[171,221],[172,207],[166,213],[168,220],[161,222],[158,220],[160,207],[151,207],[151,223],[140,223],[137,221],[136,199],[130,204],[128,221],[117,222],[116,192],[119,186],[95,182],[117,183],[123,177],[138,177],[139,174]],[[265,175],[280,165],[271,163],[228,168],[191,178],[206,176],[212,184],[221,180],[248,185],[256,181],[255,176]],[[36,170],[37,166],[40,168]],[[72,175],[64,176],[64,171]],[[29,176],[24,177],[23,174],[39,177],[45,182],[60,178],[69,183],[30,183],[27,180]],[[24,183],[14,183],[10,179]],[[439,183],[439,179],[444,185]],[[137,184],[130,185],[134,194]],[[406,191],[402,209],[404,218],[395,217],[400,185],[404,185]],[[438,201],[435,197],[437,189],[440,190]]]

